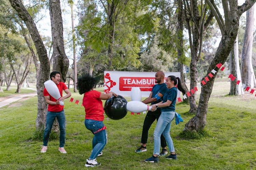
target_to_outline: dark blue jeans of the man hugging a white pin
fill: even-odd
[[[64,110],[62,110],[60,112],[47,111],[46,126],[44,129],[44,137],[43,137],[43,142],[44,142],[43,146],[47,146],[55,117],[57,118],[57,120],[59,122],[59,130],[60,130],[59,147],[64,147],[64,145],[65,145],[66,118],[65,118]]]

